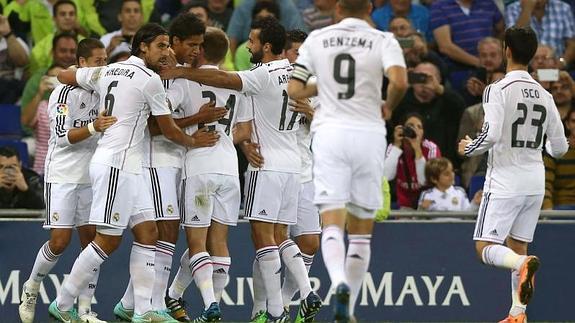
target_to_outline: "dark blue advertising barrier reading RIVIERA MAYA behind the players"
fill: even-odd
[[[571,297],[575,288],[575,214],[545,213],[560,220],[542,220],[530,252],[541,258],[535,297],[528,308],[529,321],[575,321]],[[1,214],[0,214],[1,215]],[[5,214],[4,214],[5,215]],[[446,214],[418,212],[392,214],[410,220],[388,221],[375,226],[370,270],[363,282],[356,315],[360,322],[497,322],[506,316],[510,274],[481,265],[475,258],[472,220],[449,220]],[[429,221],[413,218],[436,218]],[[465,215],[461,215],[464,217]],[[469,215],[471,216],[471,215]],[[185,250],[180,236],[172,276]],[[0,322],[18,322],[22,283],[28,278],[38,249],[48,238],[38,219],[0,218]],[[101,269],[93,309],[103,319],[113,319],[112,309],[128,280],[130,234]],[[230,230],[231,279],[222,298],[224,321],[247,322],[252,303],[254,250],[249,225]],[[56,296],[79,252],[74,238],[70,248],[45,278],[37,305],[37,322],[48,321],[47,306]],[[318,320],[331,318],[329,278],[321,254],[316,255],[311,281],[325,301]],[[188,311],[201,311],[196,287],[185,294]],[[295,317],[297,302],[293,302]]]

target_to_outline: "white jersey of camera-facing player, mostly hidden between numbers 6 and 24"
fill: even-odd
[[[168,107],[172,112],[172,118],[180,119],[184,117],[181,107],[175,107],[171,104],[169,97],[169,88],[174,80],[164,80],[164,88],[168,95]],[[169,140],[164,135],[153,136],[150,138],[150,131],[146,128],[144,139],[144,167],[175,167],[182,168],[186,148]]]

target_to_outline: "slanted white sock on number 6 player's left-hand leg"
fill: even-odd
[[[72,309],[74,300],[80,295],[80,291],[88,285],[94,272],[99,270],[100,265],[106,259],[108,259],[108,255],[93,241],[82,250],[56,298],[56,305],[60,310],[69,311]]]

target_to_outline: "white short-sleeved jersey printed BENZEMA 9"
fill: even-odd
[[[364,20],[345,18],[313,31],[299,49],[294,79],[317,76],[321,104],[312,131],[325,124],[385,132],[381,114],[384,72],[405,67],[399,43]]]

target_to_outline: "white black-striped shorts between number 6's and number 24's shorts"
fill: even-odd
[[[176,167],[144,168],[144,178],[154,202],[156,221],[180,220],[180,174],[181,169]]]

